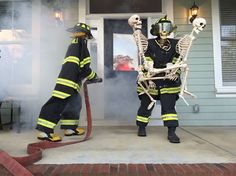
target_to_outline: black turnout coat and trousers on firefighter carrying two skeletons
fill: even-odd
[[[158,43],[158,38],[148,40],[148,48],[145,52],[145,60],[153,61],[154,68],[166,68],[167,63],[175,63],[179,56],[176,52],[176,39],[166,39],[165,43],[161,45]],[[156,76],[164,76],[161,73]],[[180,70],[178,71],[180,75]],[[161,118],[164,122],[164,126],[178,126],[178,118],[175,110],[175,103],[178,99],[178,93],[180,92],[181,81],[178,78],[175,81],[169,79],[153,80],[156,84],[155,88],[149,89],[149,94],[156,100],[160,100],[161,104]],[[143,92],[140,86],[137,87],[137,92],[140,94]],[[139,95],[141,105],[139,107],[136,123],[138,126],[146,126],[150,120],[151,109],[148,109],[148,105],[151,100],[147,94]]]

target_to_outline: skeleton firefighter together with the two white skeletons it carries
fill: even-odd
[[[138,22],[140,18],[135,19],[137,20],[136,23],[129,22],[129,24],[140,24]],[[136,117],[136,123],[139,127],[138,136],[146,136],[145,127],[148,124],[154,104],[159,99],[162,109],[161,118],[163,119],[164,126],[168,127],[168,140],[171,143],[180,142],[179,137],[175,134],[175,129],[178,126],[175,102],[179,96],[183,98],[184,93],[194,97],[186,88],[189,70],[187,56],[192,41],[195,39],[193,33],[198,34],[205,25],[206,22],[203,18],[196,18],[193,22],[194,28],[190,35],[185,35],[179,40],[171,39],[168,36],[176,27],[165,16],[152,25],[150,33],[157,37],[148,40],[148,47],[145,50],[142,48],[140,42],[140,34],[134,36],[139,46],[139,53],[143,56],[143,60],[140,62],[143,64],[140,67],[141,69],[139,69],[137,80],[138,93],[141,100]],[[132,27],[134,34],[137,30],[141,32],[140,28]],[[181,71],[183,72],[182,86],[180,79]],[[187,104],[186,101],[185,103]]]

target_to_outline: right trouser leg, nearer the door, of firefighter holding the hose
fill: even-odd
[[[72,95],[61,113],[61,129],[76,129],[79,124],[82,99],[79,93]]]

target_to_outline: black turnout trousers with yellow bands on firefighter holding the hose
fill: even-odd
[[[41,108],[36,129],[45,133],[54,133],[60,121],[61,129],[76,129],[79,124],[82,100],[79,93],[60,99],[51,97]]]

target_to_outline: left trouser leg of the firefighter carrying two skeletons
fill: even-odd
[[[136,124],[137,126],[147,126],[154,106],[152,106],[151,109],[148,109],[148,105],[151,103],[151,100],[147,94],[140,96],[140,100],[141,103],[136,117]]]

